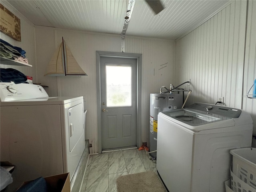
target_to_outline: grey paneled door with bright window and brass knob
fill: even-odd
[[[137,60],[100,60],[102,150],[136,146]]]

